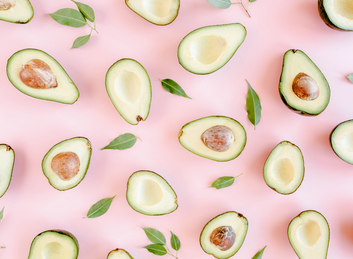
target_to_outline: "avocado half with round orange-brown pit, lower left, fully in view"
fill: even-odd
[[[44,156],[43,173],[55,189],[71,189],[85,177],[91,154],[92,145],[88,139],[66,139],[53,146]]]

